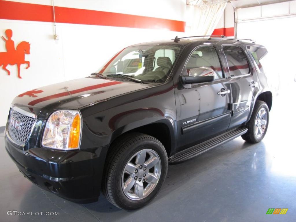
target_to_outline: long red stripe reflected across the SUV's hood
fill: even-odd
[[[101,84],[97,84],[97,85],[93,85],[93,86],[86,86],[86,87],[81,88],[81,89],[74,89],[74,90],[71,90],[69,92],[57,93],[57,94],[53,94],[53,95],[50,95],[50,96],[45,96],[43,98],[35,99],[35,100],[29,102],[28,105],[34,106],[39,102],[44,102],[44,101],[47,101],[47,100],[50,100],[50,99],[55,99],[55,98],[59,98],[59,97],[63,97],[63,96],[69,96],[69,95],[72,95],[72,94],[75,94],[75,93],[81,93],[81,92],[84,92],[84,91],[88,91],[88,90],[92,90],[92,89],[99,89],[99,88],[102,88],[102,87],[117,85],[117,84],[121,84],[121,83],[122,82],[112,81],[112,82],[101,83]]]

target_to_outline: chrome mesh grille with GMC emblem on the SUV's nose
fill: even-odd
[[[16,109],[19,111],[16,111]],[[37,118],[25,115],[24,110],[12,107],[9,114],[8,133],[15,144],[24,146],[28,141]],[[33,114],[32,114],[33,115]]]

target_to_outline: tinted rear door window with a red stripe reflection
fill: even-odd
[[[246,55],[241,48],[237,46],[223,46],[223,51],[227,59],[231,77],[250,73]]]

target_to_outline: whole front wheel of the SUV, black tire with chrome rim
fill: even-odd
[[[110,147],[102,192],[113,205],[126,210],[143,207],[160,190],[168,157],[160,141],[142,133],[118,139]]]

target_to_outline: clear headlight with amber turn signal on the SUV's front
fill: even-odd
[[[63,150],[79,149],[81,122],[81,115],[77,110],[53,112],[46,122],[42,146]]]

